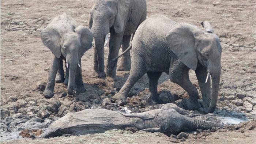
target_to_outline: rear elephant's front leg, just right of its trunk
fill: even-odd
[[[113,79],[116,77],[116,64],[117,61],[110,62],[113,58],[118,56],[119,48],[121,46],[121,42],[123,39],[123,32],[117,34],[114,29],[110,29],[110,39],[109,39],[109,56],[108,56],[108,65],[106,67],[106,75],[108,77],[112,77]],[[111,67],[114,65],[114,67]]]

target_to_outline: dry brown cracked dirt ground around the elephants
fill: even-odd
[[[212,115],[239,118],[252,122],[256,114],[256,10],[255,0],[147,0],[147,17],[162,14],[176,22],[187,22],[202,29],[207,20],[221,39],[222,70],[217,109]],[[52,53],[43,46],[40,31],[51,18],[66,12],[79,24],[88,26],[90,0],[5,0],[1,1],[1,143],[20,139],[25,128],[45,130],[50,123],[68,112],[90,108],[121,110],[112,98],[123,86],[129,72],[117,72],[110,82],[93,77],[93,48],[82,57],[82,75],[87,91],[67,95],[67,86],[56,83],[54,96],[46,99],[36,88],[46,82]],[[108,48],[105,48],[105,61]],[[190,79],[198,88],[195,73]],[[132,112],[148,107],[148,79],[143,76],[132,88],[126,107]],[[199,88],[198,88],[199,90]],[[199,90],[200,91],[200,90]],[[182,107],[186,92],[163,74],[158,83],[159,95],[173,97]],[[170,94],[171,92],[171,94]],[[197,111],[191,111],[197,113]],[[209,114],[211,115],[211,114]],[[255,123],[254,123],[255,125]],[[255,127],[255,126],[254,126]],[[203,133],[203,132],[199,132]],[[255,143],[255,129],[222,129],[202,137],[189,136],[181,143]],[[198,135],[198,134],[197,134]],[[22,139],[8,143],[171,143],[161,133],[108,131],[86,136],[53,139]]]

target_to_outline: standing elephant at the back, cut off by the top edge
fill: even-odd
[[[109,61],[117,57],[120,46],[123,51],[129,47],[131,34],[135,33],[139,24],[146,19],[146,0],[93,0],[90,11],[89,28],[95,40],[94,72],[96,77],[106,74],[114,78],[116,65],[108,67]],[[106,74],[104,72],[104,41],[110,33],[109,56]],[[115,64],[117,61],[115,62]],[[125,53],[119,71],[129,71],[131,68],[130,53]]]

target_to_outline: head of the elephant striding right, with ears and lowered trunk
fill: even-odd
[[[219,37],[208,22],[202,22],[204,32],[187,23],[180,23],[166,35],[169,48],[190,69],[196,71],[202,92],[205,113],[212,113],[217,105],[221,76],[222,47]],[[209,75],[212,78],[212,87]],[[205,81],[202,82],[202,81]]]

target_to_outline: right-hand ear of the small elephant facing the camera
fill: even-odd
[[[85,26],[78,26],[75,29],[75,32],[81,35],[80,43],[82,46],[82,55],[93,46],[93,33],[90,29],[87,29]]]

